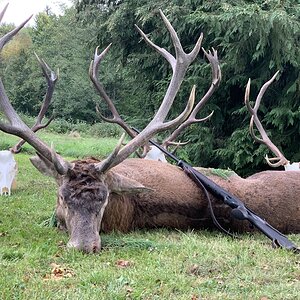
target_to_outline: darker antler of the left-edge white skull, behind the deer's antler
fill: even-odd
[[[55,84],[56,84],[57,79],[58,79],[59,70],[57,70],[57,73],[54,73],[43,59],[40,59],[36,53],[34,53],[34,54],[35,54],[35,56],[36,56],[36,58],[39,62],[39,65],[42,69],[42,72],[43,72],[43,74],[44,74],[44,76],[46,77],[46,80],[47,80],[47,91],[46,91],[46,94],[45,94],[40,112],[37,116],[35,124],[33,125],[33,127],[31,127],[31,130],[33,132],[37,132],[38,130],[47,127],[52,122],[52,120],[54,119],[54,115],[52,115],[46,123],[42,124],[42,120],[43,120],[43,118],[44,118],[44,116],[45,116],[45,114],[46,114],[46,112],[47,112],[47,110],[48,110],[48,108],[51,104],[52,95],[53,95],[53,92],[54,92]],[[20,140],[10,150],[13,153],[19,153],[21,151],[21,147],[25,143],[26,143],[25,140]]]

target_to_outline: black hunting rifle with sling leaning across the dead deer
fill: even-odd
[[[132,128],[135,132],[139,133],[139,130]],[[226,205],[232,208],[231,215],[237,220],[248,220],[253,226],[259,229],[264,235],[272,240],[272,245],[274,248],[280,247],[287,250],[300,253],[300,248],[298,248],[294,243],[292,243],[285,235],[279,232],[277,229],[272,227],[269,223],[259,217],[255,212],[248,208],[240,199],[236,196],[230,194],[222,187],[214,183],[208,177],[195,170],[188,163],[178,159],[174,154],[167,151],[165,148],[157,144],[156,142],[149,140],[149,143],[160,149],[168,157],[173,159],[177,165],[183,169],[183,171],[202,189],[205,193],[210,192],[217,199],[222,200]],[[207,191],[206,191],[207,190]],[[208,194],[207,194],[208,195]],[[211,204],[210,204],[211,206]],[[212,207],[210,207],[212,212]],[[213,214],[212,214],[213,216]],[[214,223],[216,224],[215,217],[213,216]],[[216,224],[220,228],[219,224]],[[222,229],[222,228],[220,228]],[[226,230],[222,229],[227,232]],[[227,232],[228,233],[228,232]],[[232,235],[232,234],[230,234]]]

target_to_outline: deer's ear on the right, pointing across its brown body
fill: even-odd
[[[109,190],[116,194],[153,191],[134,179],[130,179],[112,171],[109,171],[107,174],[105,174],[105,183],[107,184]]]

